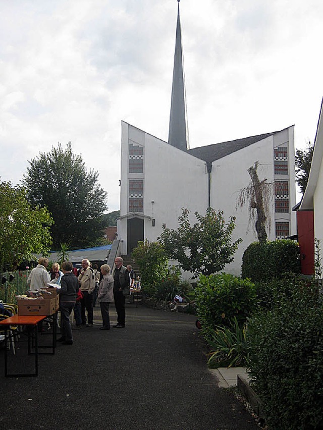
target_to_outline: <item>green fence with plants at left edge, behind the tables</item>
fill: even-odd
[[[30,271],[4,272],[1,274],[0,300],[5,303],[16,303],[17,294],[26,294],[27,278]],[[11,281],[10,281],[11,280]]]

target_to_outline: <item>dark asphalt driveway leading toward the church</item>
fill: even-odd
[[[125,329],[100,331],[95,309],[93,328],[39,357],[38,378],[4,378],[0,352],[0,428],[258,428],[207,369],[193,315],[127,305]]]

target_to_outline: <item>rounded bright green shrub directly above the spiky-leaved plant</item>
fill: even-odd
[[[203,330],[229,327],[234,317],[242,327],[255,305],[255,286],[230,274],[201,275],[195,289],[197,315]]]

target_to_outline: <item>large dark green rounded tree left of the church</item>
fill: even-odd
[[[35,207],[47,207],[55,224],[51,227],[53,246],[71,248],[95,246],[103,236],[102,214],[106,192],[97,183],[98,173],[87,171],[81,155],[75,155],[69,142],[59,143],[47,153],[29,161],[23,184]]]

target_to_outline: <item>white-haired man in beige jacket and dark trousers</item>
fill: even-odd
[[[82,260],[82,271],[78,277],[80,283],[80,290],[83,293],[81,301],[81,317],[82,326],[93,327],[93,296],[92,293],[95,288],[95,278],[93,269],[90,267],[90,262],[87,258]],[[87,324],[85,309],[87,311]]]

